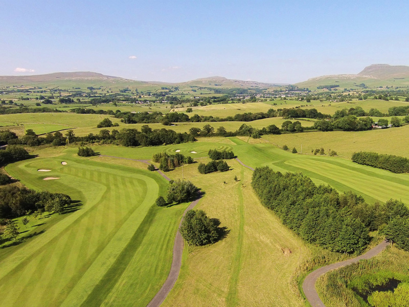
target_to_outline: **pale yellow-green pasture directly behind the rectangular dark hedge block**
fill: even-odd
[[[399,128],[373,129],[368,131],[314,131],[309,133],[265,135],[262,136],[272,144],[288,148],[296,147],[303,153],[311,154],[311,149],[335,150],[339,156],[350,159],[356,151],[374,151],[409,158],[409,125]]]

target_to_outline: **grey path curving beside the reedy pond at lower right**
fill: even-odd
[[[335,264],[316,269],[315,271],[308,274],[303,282],[303,291],[304,291],[305,297],[307,298],[311,306],[312,307],[326,307],[315,290],[315,282],[317,281],[318,278],[328,273],[329,271],[336,270],[336,269],[339,269],[339,268],[342,268],[342,267],[345,267],[351,264],[355,264],[361,259],[370,259],[378,255],[381,251],[383,251],[388,246],[388,244],[389,243],[386,240],[384,240],[382,243],[379,243],[377,246],[375,246],[374,248],[372,248],[371,250],[369,250],[363,255],[360,255],[352,259],[336,262]]]

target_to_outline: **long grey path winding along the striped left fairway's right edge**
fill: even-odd
[[[105,156],[105,155],[100,155],[100,157],[107,157],[107,158],[116,158],[116,159],[123,159],[123,160],[131,160],[131,161],[138,161],[142,162],[145,164],[150,164],[149,160],[138,160],[138,159],[130,159],[130,158],[122,158],[122,157],[115,157],[115,156]],[[167,177],[161,170],[156,170],[158,173],[162,175],[163,178],[165,178],[167,181],[170,181],[169,177]],[[183,248],[185,246],[183,242],[183,238],[180,234],[179,228],[180,225],[182,224],[183,217],[185,216],[186,212],[193,209],[194,206],[197,205],[199,200],[201,199],[201,194],[198,194],[197,200],[193,201],[183,212],[183,216],[180,219],[179,227],[177,229],[176,237],[175,237],[175,243],[173,244],[173,258],[172,258],[172,265],[170,267],[170,272],[168,275],[168,278],[166,279],[165,283],[163,284],[162,288],[156,293],[156,295],[152,298],[152,300],[149,302],[147,307],[159,307],[163,301],[166,299],[168,296],[170,290],[172,290],[173,286],[176,283],[177,277],[179,277],[179,272],[180,268],[182,266],[182,254],[183,254]]]

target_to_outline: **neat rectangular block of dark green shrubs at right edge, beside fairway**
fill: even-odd
[[[360,151],[352,155],[352,161],[358,164],[387,169],[394,173],[409,172],[409,159],[376,152]]]

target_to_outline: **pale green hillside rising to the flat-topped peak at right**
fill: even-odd
[[[328,84],[337,84],[341,88],[356,89],[358,88],[357,85],[361,83],[368,87],[409,86],[409,66],[372,64],[358,74],[320,76],[295,85],[308,87],[311,90],[315,90],[317,86]]]

